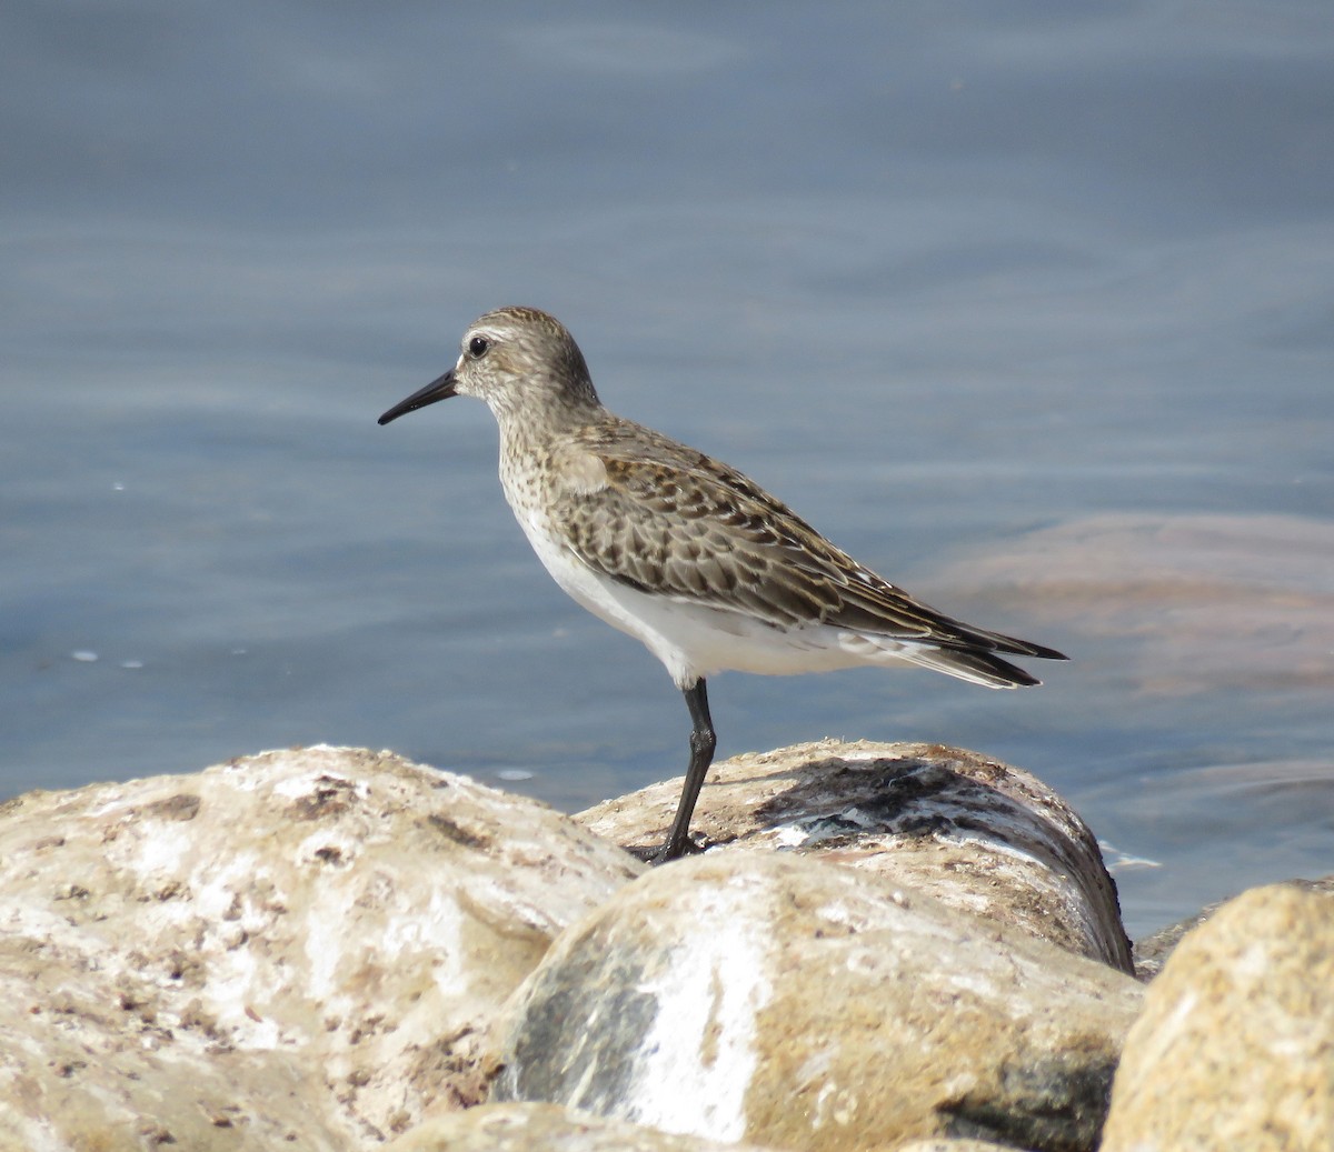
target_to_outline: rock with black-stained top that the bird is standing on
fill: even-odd
[[[643,849],[666,833],[680,779],[580,812]],[[710,844],[790,848],[927,891],[1133,972],[1117,885],[1089,827],[1018,768],[936,744],[823,740],[714,765],[694,828]]]

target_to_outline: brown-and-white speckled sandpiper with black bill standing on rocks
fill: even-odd
[[[486,401],[506,500],[576,603],[656,656],[684,695],[690,757],[652,863],[699,851],[690,821],[716,733],[707,680],[919,665],[987,688],[1041,681],[1003,656],[1063,653],[951,619],[831,544],[755,481],[603,407],[566,327],[528,307],[468,325],[444,375],[379,424],[452,396]]]

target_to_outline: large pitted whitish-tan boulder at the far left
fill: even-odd
[[[640,871],[364,751],[11,800],[0,1148],[378,1147],[476,1103],[498,1005]]]

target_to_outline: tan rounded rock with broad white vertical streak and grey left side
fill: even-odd
[[[506,1009],[491,1099],[812,1152],[1093,1148],[1141,997],[883,875],[716,852],[558,939]]]

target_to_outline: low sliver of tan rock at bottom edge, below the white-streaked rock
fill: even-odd
[[[607,1120],[559,1104],[483,1104],[404,1132],[384,1152],[760,1152]],[[960,1149],[968,1152],[968,1149]]]

